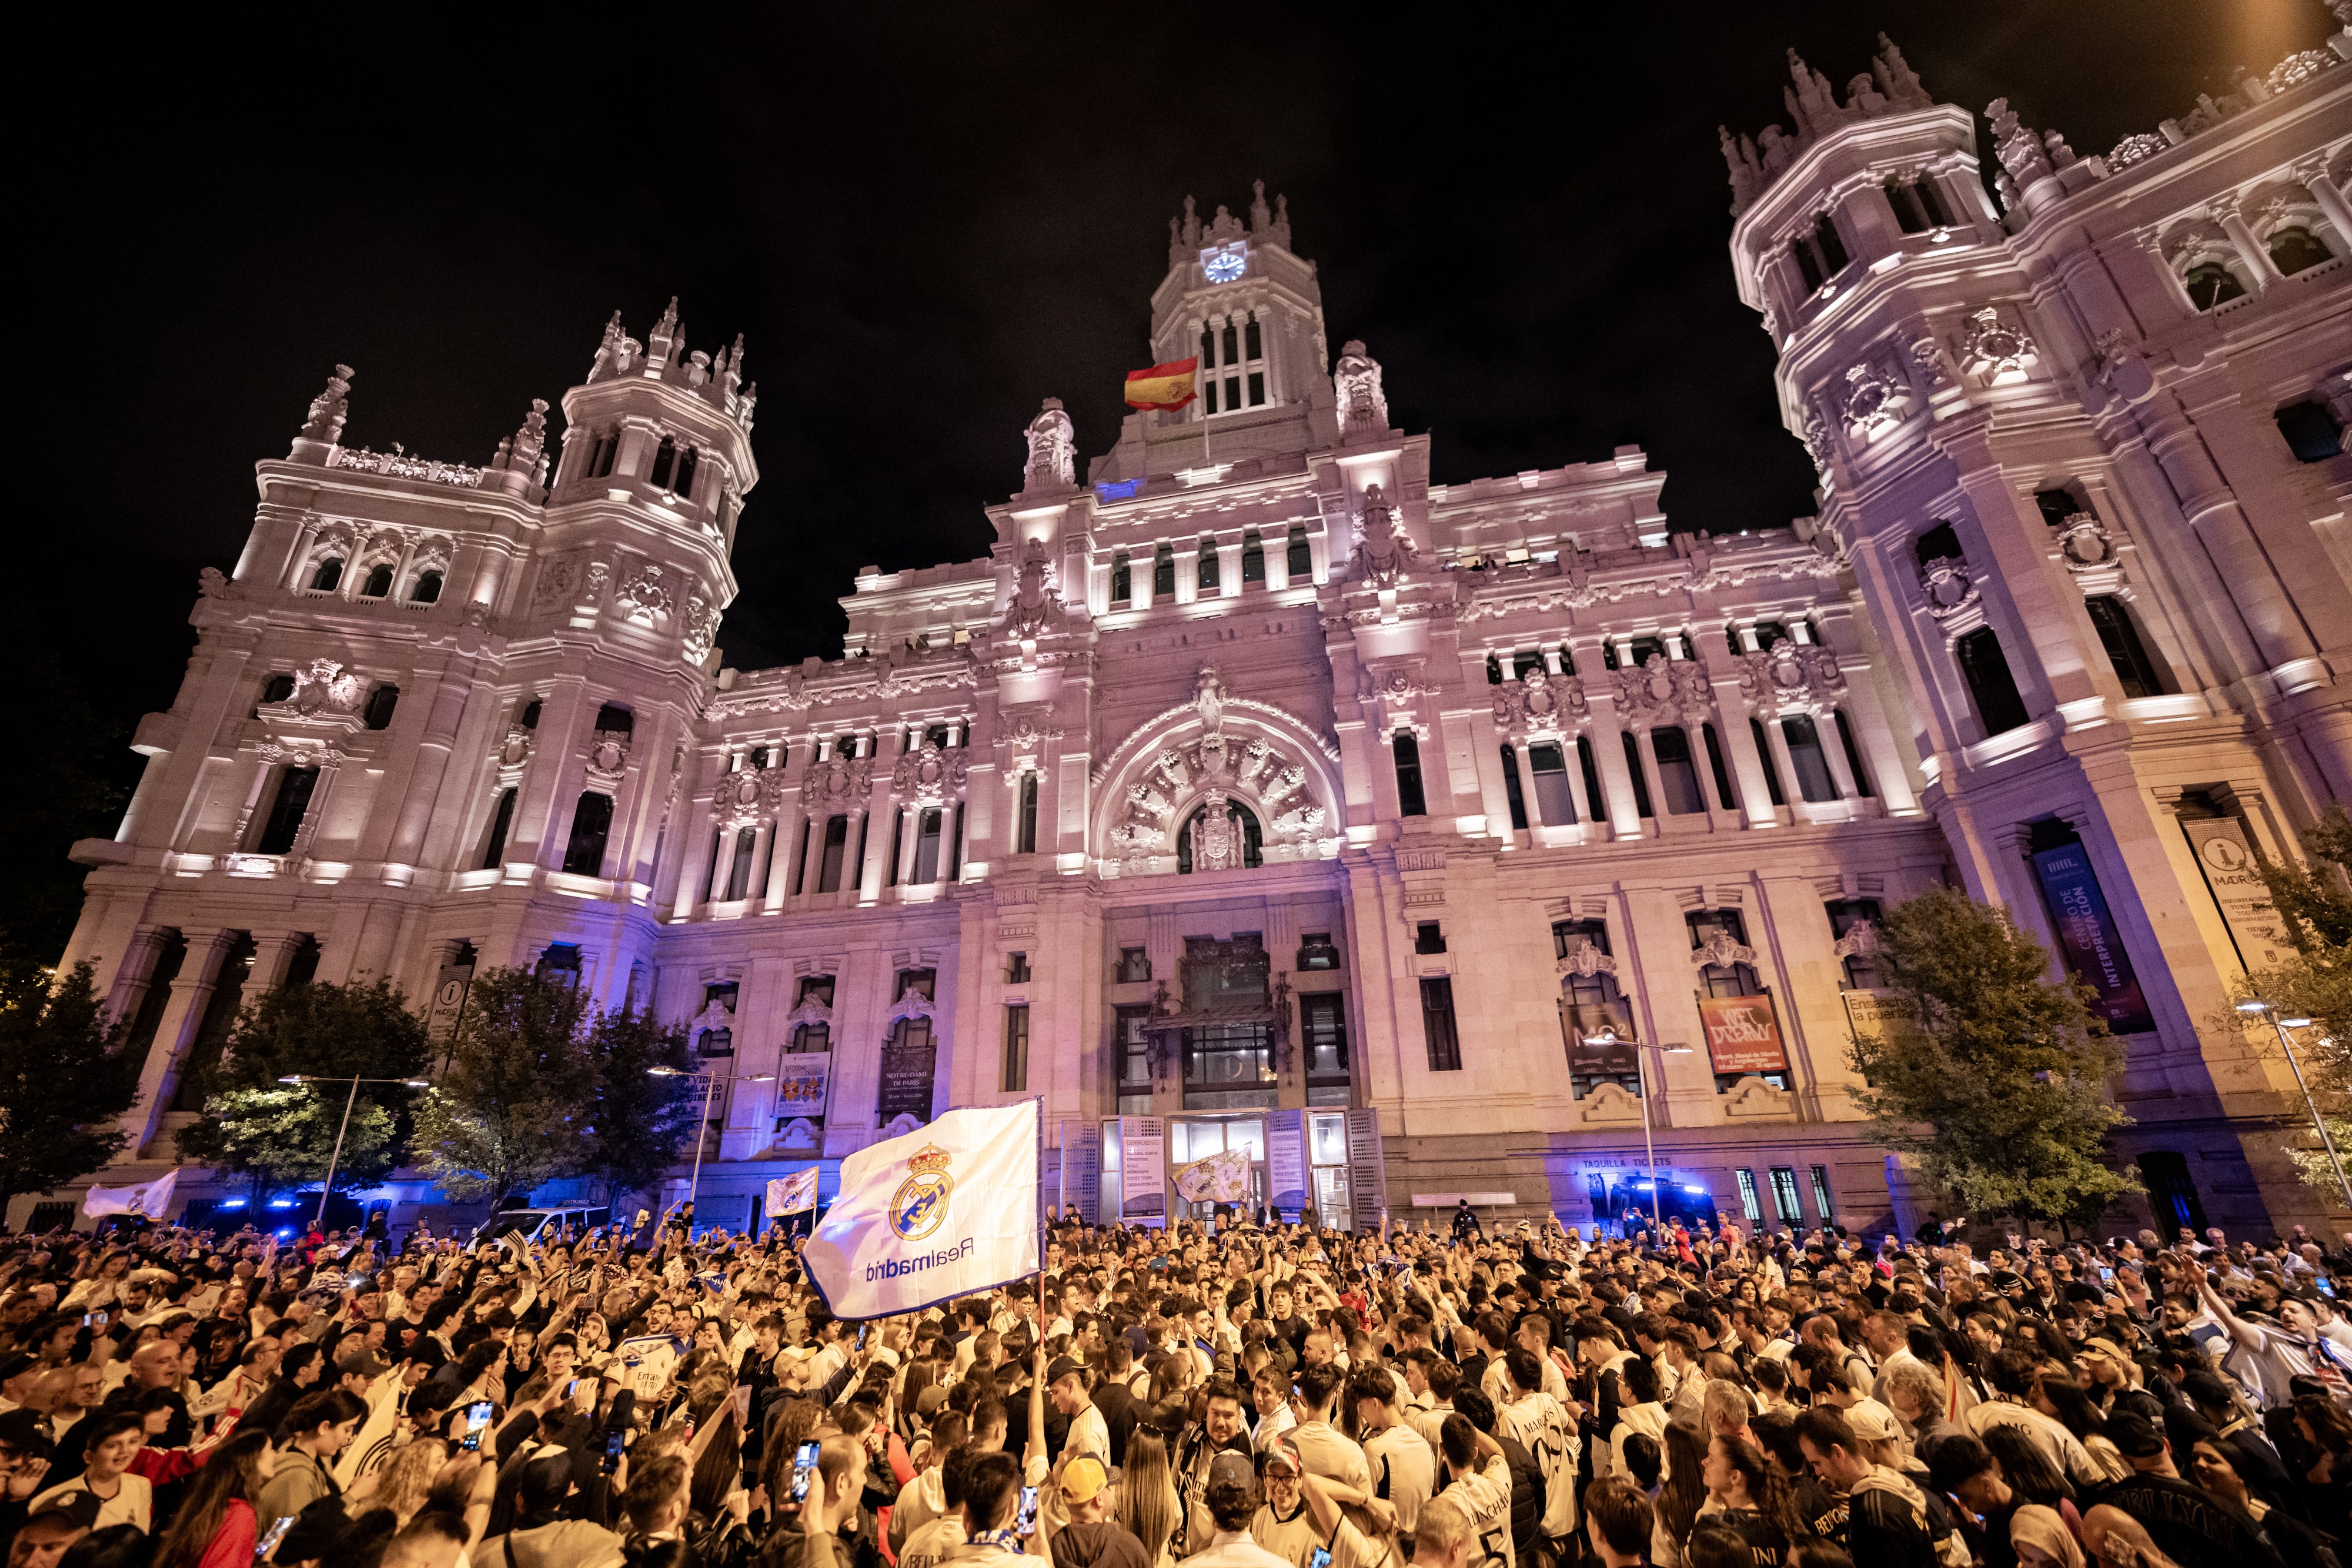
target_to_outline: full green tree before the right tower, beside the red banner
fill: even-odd
[[[2079,985],[2046,980],[2049,952],[2009,917],[1936,889],[1886,912],[1879,973],[1893,992],[1877,1037],[1846,1053],[1870,1135],[1915,1154],[1966,1213],[2091,1225],[2138,1192],[2103,1159],[2129,1117],[2107,1100],[2124,1051]]]

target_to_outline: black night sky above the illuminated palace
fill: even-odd
[[[1240,212],[1251,176],[1439,480],[1637,442],[1682,527],[1776,524],[1813,475],[1733,294],[1715,125],[1780,113],[1790,45],[1844,82],[1886,28],[1936,96],[2009,94],[2096,153],[2331,26],[2317,0],[473,9],[240,38],[87,7],[28,49],[54,96],[19,127],[19,256],[54,275],[12,618],[103,717],[169,703],[195,571],[235,562],[252,463],[336,360],[353,444],[480,463],[614,308],[642,336],[670,294],[760,381],[720,644],[835,656],[858,564],[985,550],[1040,397],[1082,454],[1115,440],[1167,219]]]

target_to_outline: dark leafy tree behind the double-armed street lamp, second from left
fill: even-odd
[[[216,1171],[249,1175],[254,1194],[325,1180],[372,1187],[407,1157],[414,1091],[400,1084],[426,1067],[426,1025],[386,980],[374,985],[280,985],[249,1001],[228,1051],[207,1070],[205,1117],[179,1131],[179,1147]],[[289,1074],[346,1079],[282,1084]],[[350,1131],[334,1157],[343,1105]]]

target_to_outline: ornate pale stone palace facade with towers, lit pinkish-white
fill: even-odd
[[[1893,45],[1844,96],[1792,56],[1795,125],[1724,150],[1795,522],[1670,517],[1639,447],[1435,482],[1263,186],[1169,226],[1200,400],[1084,473],[1047,400],[990,552],[861,571],[837,661],[720,654],[755,395],[675,301],[482,468],[350,444],[336,367],[73,851],[66,961],[146,1051],[99,1180],[174,1161],[259,987],[445,1032],[539,966],[691,1030],[727,1225],[1040,1095],[1103,1218],[1247,1154],[1357,1225],[1907,1229],[1844,1056],[1882,910],[1950,882],[2093,985],[2154,1215],[2317,1222],[2223,1013],[2249,856],[2352,799],[2345,54],[2103,158],[1994,103],[1999,197]]]

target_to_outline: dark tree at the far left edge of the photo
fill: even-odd
[[[0,1213],[129,1145],[118,1119],[139,1105],[141,1065],[129,1027],[99,1006],[89,964],[56,980],[0,969]]]

